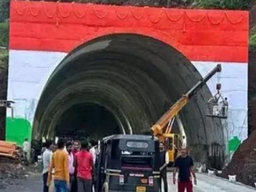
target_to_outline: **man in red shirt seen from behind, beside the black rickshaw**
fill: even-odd
[[[74,158],[74,166],[77,169],[78,192],[91,192],[93,185],[94,163],[93,155],[89,152],[88,141],[81,141],[81,150]]]

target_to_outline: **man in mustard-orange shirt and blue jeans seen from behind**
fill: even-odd
[[[64,149],[65,141],[60,138],[57,142],[57,151],[52,154],[49,172],[54,169],[54,189],[55,192],[68,192],[70,189],[68,172],[68,153]],[[52,175],[48,175],[48,186],[51,184]]]

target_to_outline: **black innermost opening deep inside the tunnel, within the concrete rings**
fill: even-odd
[[[60,116],[55,127],[56,137],[76,140],[81,137],[100,140],[116,133],[123,134],[123,130],[113,113],[93,103],[73,105]]]

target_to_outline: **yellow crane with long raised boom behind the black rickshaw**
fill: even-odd
[[[206,82],[211,79],[216,73],[221,72],[221,65],[218,64],[215,66],[210,73],[207,74],[203,79],[199,80],[194,87],[192,87],[186,94],[176,101],[174,105],[169,108],[165,114],[163,114],[157,123],[152,127],[152,134],[158,137],[160,142],[165,143],[168,153],[169,153],[169,162],[173,163],[178,154],[178,149],[182,144],[182,140],[179,134],[171,133],[172,124],[174,118],[178,115],[180,110],[182,110],[185,105],[188,104],[191,98],[206,84]]]

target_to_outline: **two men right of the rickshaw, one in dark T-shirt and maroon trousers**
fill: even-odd
[[[166,167],[169,164],[169,155],[168,151],[165,149],[165,145],[160,143],[160,175],[161,179],[163,180],[164,191],[168,192],[168,182],[167,182],[167,170]],[[194,184],[196,185],[196,174],[194,173],[193,169],[194,163],[193,159],[188,155],[187,149],[182,148],[180,150],[180,155],[176,158],[174,162],[174,171],[172,176],[172,182],[176,185],[176,174],[179,172],[178,176],[178,192],[193,192],[193,179]],[[161,182],[162,183],[162,182]]]

